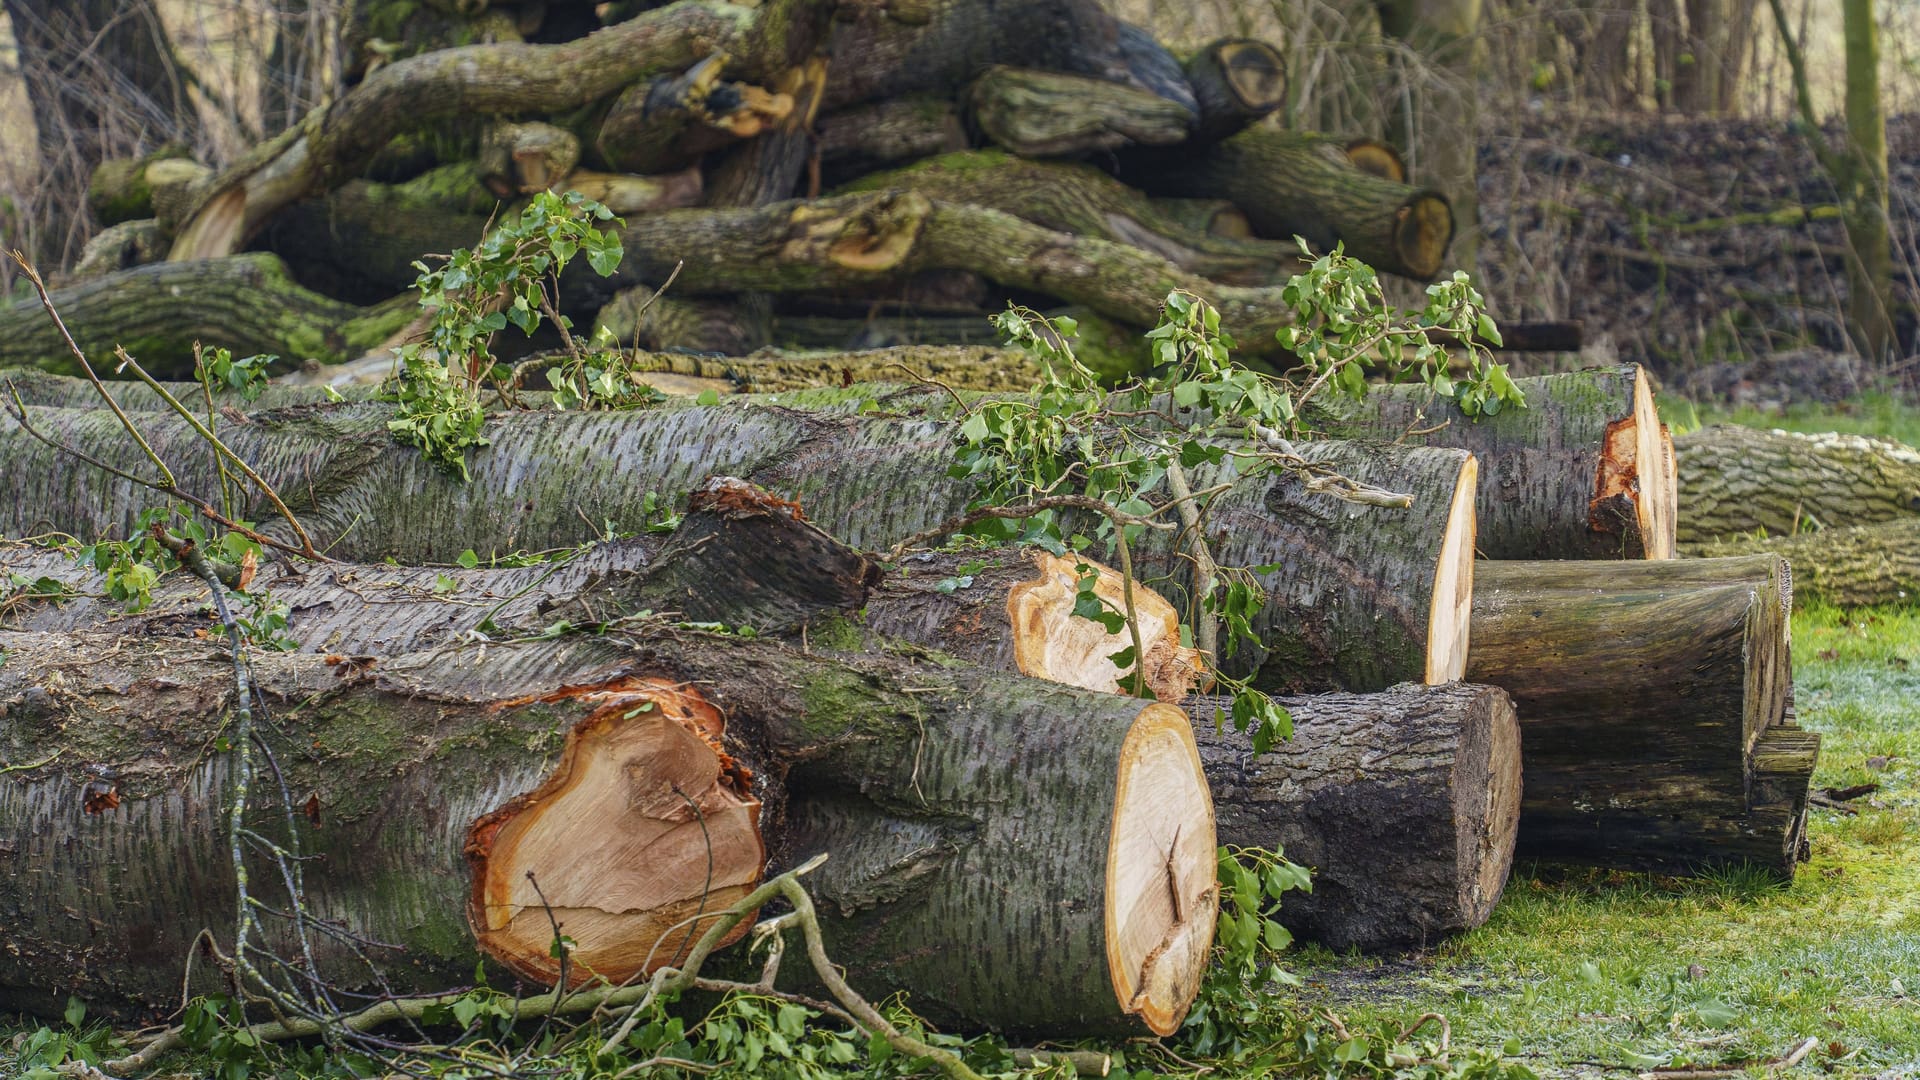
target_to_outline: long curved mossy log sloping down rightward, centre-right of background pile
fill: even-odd
[[[1058,233],[1127,244],[1221,284],[1284,284],[1302,269],[1300,248],[1292,244],[1194,233],[1165,217],[1154,200],[1092,165],[975,150],[874,173],[849,186],[885,188],[998,209]]]

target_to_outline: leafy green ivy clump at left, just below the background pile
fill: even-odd
[[[595,223],[620,219],[605,206],[568,192],[536,194],[518,217],[490,231],[478,246],[459,248],[440,267],[415,263],[420,306],[434,311],[424,342],[397,350],[401,371],[390,394],[399,405],[388,430],[419,446],[430,461],[468,479],[467,452],[488,446],[480,392],[513,392],[515,373],[493,361],[493,336],[513,327],[532,336],[551,323],[566,357],[547,369],[553,407],[634,407],[660,402],[659,390],[632,371],[607,340],[582,346],[572,319],[561,313],[561,273],[584,258],[593,273],[612,275],[624,256],[620,236]]]

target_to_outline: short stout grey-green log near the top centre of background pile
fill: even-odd
[[[1025,67],[989,67],[966,90],[966,115],[1021,158],[1081,158],[1121,146],[1173,146],[1194,110],[1152,90]]]

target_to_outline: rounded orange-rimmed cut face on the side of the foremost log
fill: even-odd
[[[468,920],[520,976],[561,982],[561,934],[568,984],[618,984],[680,963],[699,938],[693,919],[758,886],[760,803],[697,692],[622,678],[566,696],[603,705],[574,724],[540,788],[472,824]]]

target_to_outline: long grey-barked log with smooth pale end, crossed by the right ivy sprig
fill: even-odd
[[[708,475],[741,477],[785,498],[843,540],[887,548],[960,515],[973,498],[952,479],[952,421],[801,411],[781,405],[666,405],[636,413],[513,413],[488,423],[472,480],[436,471],[397,446],[380,405],[313,405],[225,427],[236,454],[273,480],[315,542],[336,557],[451,561],[563,548],[605,527],[645,528],[645,496],[678,500]],[[38,430],[104,461],[144,469],[106,411],[33,409]],[[142,417],[148,440],[188,490],[219,490],[205,448],[173,417]],[[1242,479],[1210,505],[1210,546],[1225,567],[1258,575],[1267,603],[1254,619],[1263,648],[1231,671],[1263,686],[1382,688],[1446,682],[1465,663],[1473,592],[1475,461],[1459,450],[1315,442],[1302,454],[1354,480],[1413,496],[1369,507],[1296,475]],[[152,505],[142,490],[0,419],[0,461],[23,479],[0,505],[0,534],[48,527],[98,536]],[[1194,490],[1210,477],[1196,469]],[[246,515],[269,521],[250,505]],[[591,523],[591,525],[589,525]],[[271,525],[267,528],[273,528]],[[1190,567],[1154,534],[1133,552],[1144,580],[1164,578],[1177,605]],[[1114,552],[1089,552],[1114,563]]]

